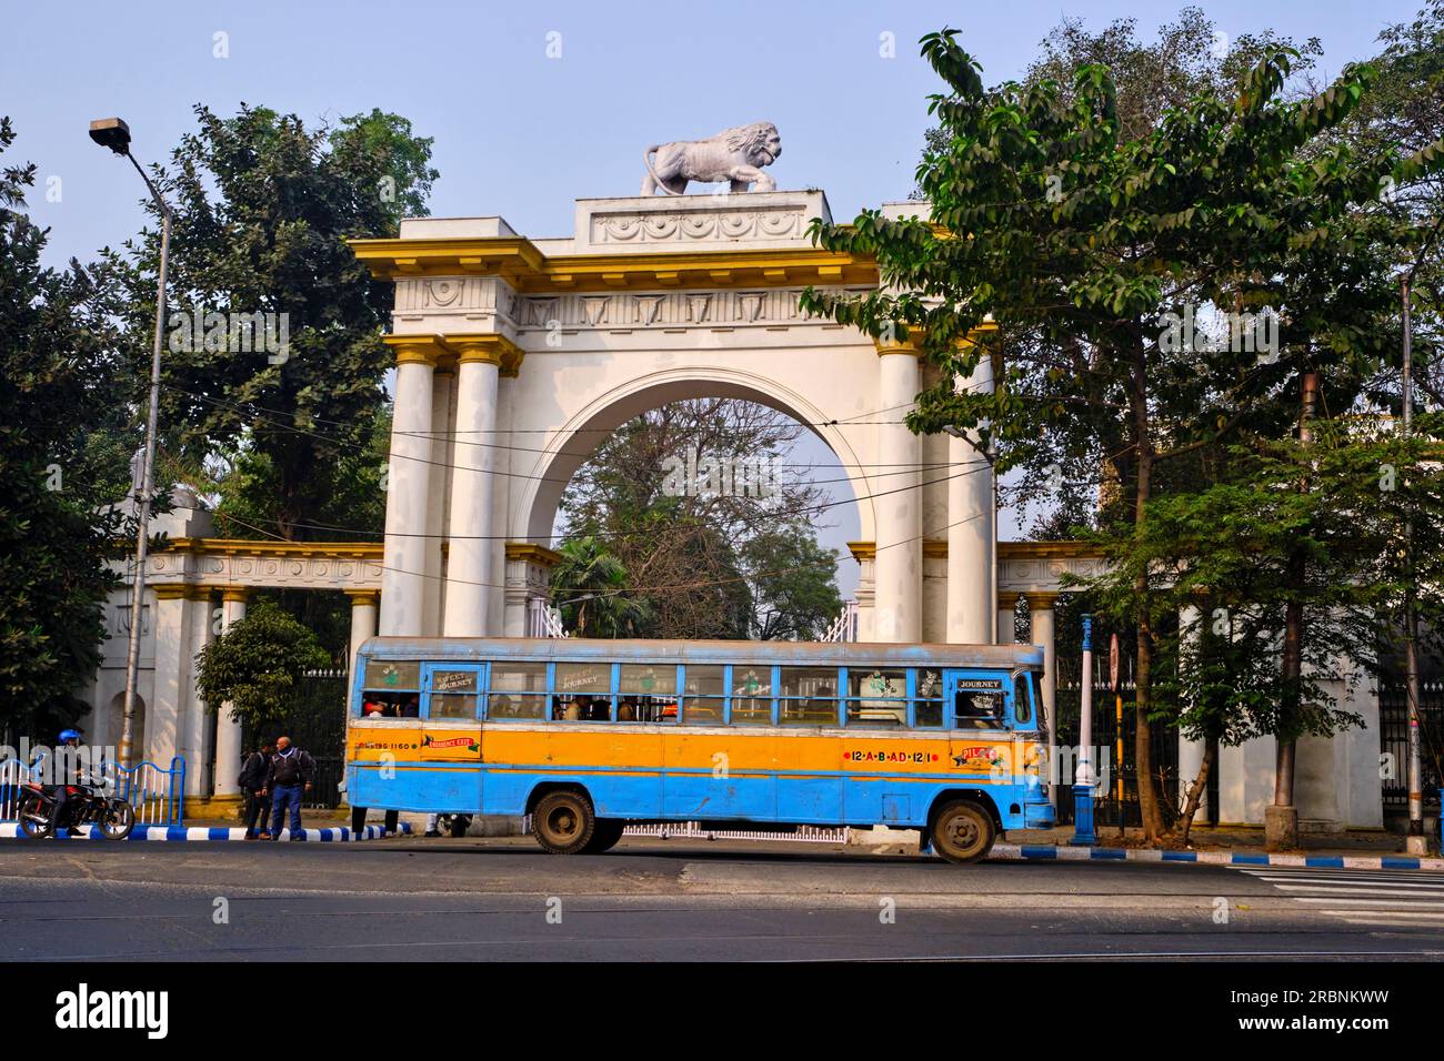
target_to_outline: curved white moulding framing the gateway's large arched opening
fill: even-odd
[[[786,358],[784,358],[786,359]],[[864,460],[862,429],[849,432],[784,380],[758,372],[718,365],[664,368],[619,383],[592,398],[567,417],[547,439],[543,452],[523,462],[524,475],[513,481],[517,504],[510,537],[516,541],[543,543],[552,534],[557,504],[567,481],[608,437],[628,420],[673,401],[689,398],[738,398],[767,406],[801,423],[832,450],[842,465],[858,510],[859,537],[874,537],[874,482]],[[855,437],[849,437],[849,433]],[[513,460],[513,468],[517,462]],[[881,488],[885,488],[885,482]],[[862,498],[858,501],[858,498]],[[839,498],[842,504],[846,504]]]

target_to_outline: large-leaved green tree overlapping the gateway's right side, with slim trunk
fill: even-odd
[[[940,147],[918,167],[931,217],[819,224],[829,250],[875,254],[890,287],[804,296],[871,335],[917,333],[941,380],[918,396],[913,430],[979,429],[998,440],[999,471],[1057,466],[1057,439],[1067,459],[1109,465],[1116,504],[1102,533],[1118,560],[1147,538],[1154,494],[1187,484],[1206,452],[1242,427],[1287,433],[1305,368],[1352,397],[1388,355],[1388,277],[1366,266],[1395,231],[1366,206],[1385,176],[1437,167],[1444,153],[1359,157],[1320,143],[1363,97],[1367,68],[1288,101],[1297,52],[1272,49],[1227,95],[1200,91],[1125,139],[1102,66],[1080,69],[1069,92],[1051,81],[985,89],[956,30],[926,36],[923,53],[947,88],[931,101]],[[1278,313],[1276,358],[1170,342],[1196,310],[1265,306]],[[962,344],[989,315],[996,333]],[[995,358],[996,391],[956,390],[982,357]],[[1148,722],[1170,709],[1151,681],[1167,579],[1132,570],[1135,762],[1152,839],[1164,831]]]

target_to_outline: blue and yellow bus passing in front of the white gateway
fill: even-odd
[[[1032,645],[373,638],[355,807],[530,816],[543,849],[632,821],[887,824],[953,862],[1053,824]]]

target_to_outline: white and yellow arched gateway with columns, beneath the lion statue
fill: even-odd
[[[396,283],[381,632],[527,632],[557,502],[601,432],[710,396],[786,413],[838,456],[862,637],[992,642],[992,471],[967,439],[907,430],[915,346],[801,309],[807,287],[879,283],[874,260],[813,245],[812,218],[830,219],[817,191],[580,199],[565,238],[491,217],[354,241]]]

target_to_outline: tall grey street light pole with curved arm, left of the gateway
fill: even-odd
[[[146,453],[142,459],[140,488],[136,494],[136,580],[130,592],[130,641],[126,651],[126,712],[120,729],[120,765],[130,767],[136,733],[136,684],[140,677],[140,619],[146,599],[146,563],[150,546],[150,497],[156,481],[156,422],[160,416],[160,342],[166,326],[166,271],[170,264],[170,208],[146,176],[136,156],[130,153],[130,127],[120,118],[101,118],[90,127],[91,140],[116,154],[130,159],[130,165],[146,182],[150,198],[160,209],[160,268],[156,283],[156,339],[150,352],[150,407],[146,413]]]

